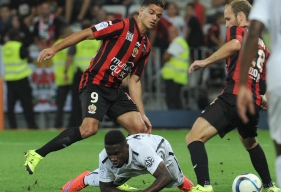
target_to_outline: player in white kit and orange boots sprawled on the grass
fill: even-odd
[[[84,172],[67,182],[62,191],[80,191],[87,185],[100,186],[101,191],[122,191],[116,188],[132,177],[151,174],[155,181],[144,190],[161,191],[178,187],[189,192],[193,183],[182,173],[170,143],[153,134],[135,134],[127,138],[119,130],[109,131],[105,149],[99,155],[99,170]]]

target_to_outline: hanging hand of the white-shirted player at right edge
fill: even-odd
[[[249,111],[252,115],[255,114],[253,96],[252,93],[248,90],[247,86],[243,85],[239,87],[237,96],[237,110],[238,115],[244,123],[247,123],[249,121],[246,115],[247,111]]]

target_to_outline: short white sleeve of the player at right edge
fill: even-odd
[[[270,20],[270,4],[272,0],[257,0],[254,1],[253,7],[251,9],[249,20],[258,20],[262,22],[266,28],[268,28]]]

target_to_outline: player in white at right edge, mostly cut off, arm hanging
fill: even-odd
[[[275,171],[279,187],[281,186],[281,0],[258,0],[254,2],[249,15],[250,27],[242,48],[239,93],[237,97],[238,113],[248,122],[247,109],[254,113],[252,93],[247,88],[247,77],[252,59],[256,54],[256,44],[264,27],[270,31],[271,54],[267,64],[268,120],[270,136],[276,149]],[[243,51],[244,50],[244,51]],[[259,63],[256,63],[257,65]]]

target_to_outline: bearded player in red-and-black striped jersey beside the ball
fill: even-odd
[[[262,39],[259,39],[259,44],[256,44],[258,49],[255,57],[252,58],[252,63],[259,61],[259,65],[255,64],[251,67],[247,79],[253,94],[256,113],[255,115],[248,114],[249,122],[244,124],[236,108],[239,71],[240,65],[242,65],[239,53],[242,41],[247,34],[250,10],[251,5],[246,0],[234,0],[227,4],[224,10],[227,27],[226,43],[210,57],[195,61],[189,68],[189,73],[192,73],[219,60],[226,59],[227,78],[225,88],[221,95],[201,112],[186,136],[186,144],[198,183],[197,186],[192,188],[192,192],[214,191],[210,182],[208,157],[204,144],[215,135],[219,134],[220,137],[224,137],[235,128],[238,130],[244,148],[249,153],[253,167],[262,180],[265,191],[280,191],[272,182],[264,151],[256,139],[259,111],[264,104],[267,104],[262,94],[265,93],[265,65],[269,57],[269,51]]]

